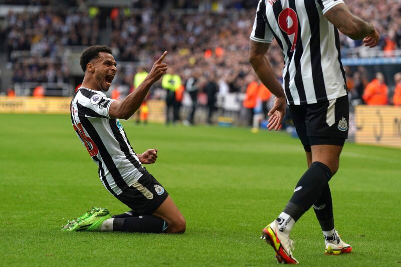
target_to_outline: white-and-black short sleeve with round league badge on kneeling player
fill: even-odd
[[[114,99],[104,94],[81,89],[81,96],[77,99],[78,115],[90,118],[110,118],[109,109]]]

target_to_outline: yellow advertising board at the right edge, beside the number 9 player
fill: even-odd
[[[401,107],[357,106],[355,123],[356,143],[401,148]]]

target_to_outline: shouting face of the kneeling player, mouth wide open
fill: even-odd
[[[96,82],[103,91],[108,91],[117,72],[117,62],[113,55],[101,52],[94,64]]]

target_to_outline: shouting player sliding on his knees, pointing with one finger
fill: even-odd
[[[84,50],[80,65],[85,72],[81,87],[71,101],[75,132],[99,166],[104,187],[130,211],[111,216],[107,209],[92,208],[67,223],[67,231],[128,231],[183,233],[185,219],[163,186],[142,164],[154,163],[157,149],[136,154],[119,119],[128,119],[140,107],[151,85],[167,71],[167,52],[153,64],[144,81],[121,102],[107,98],[117,72],[110,48]]]

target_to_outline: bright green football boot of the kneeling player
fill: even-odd
[[[100,231],[103,221],[110,219],[111,215],[106,208],[95,208],[87,210],[82,216],[68,221],[61,229],[62,231]]]

